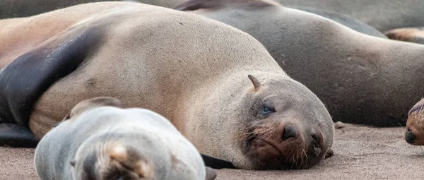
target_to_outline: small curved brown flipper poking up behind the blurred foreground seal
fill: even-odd
[[[112,97],[95,97],[89,100],[83,100],[72,108],[71,113],[65,117],[71,119],[79,116],[89,109],[103,106],[122,107],[122,102]]]

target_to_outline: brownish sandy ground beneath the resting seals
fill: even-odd
[[[336,129],[333,157],[311,169],[221,169],[217,179],[424,179],[424,149],[408,145],[404,128],[346,124]],[[37,179],[33,149],[0,148],[0,179]]]

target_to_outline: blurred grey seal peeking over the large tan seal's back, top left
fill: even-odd
[[[0,1],[0,19],[3,18],[22,18],[35,16],[40,13],[54,11],[59,8],[66,8],[78,4],[98,2],[105,0],[78,0],[78,1],[57,1],[57,0],[13,0]],[[130,1],[130,0],[107,0],[107,1]],[[184,0],[132,0],[134,2],[151,4],[155,6],[163,6],[173,8],[178,4],[182,4]]]

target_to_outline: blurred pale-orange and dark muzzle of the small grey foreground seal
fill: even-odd
[[[138,176],[150,178],[153,176],[153,167],[143,160],[136,151],[124,145],[114,145],[109,152],[112,169],[119,169],[121,176]]]

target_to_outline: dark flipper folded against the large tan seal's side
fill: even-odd
[[[50,85],[75,71],[90,55],[100,40],[98,29],[96,26],[70,28],[19,56],[1,70],[0,124],[18,126],[14,126],[13,131],[6,125],[0,126],[0,137],[18,141],[20,133],[30,133],[28,121],[33,104]],[[1,140],[0,144],[6,143]]]

